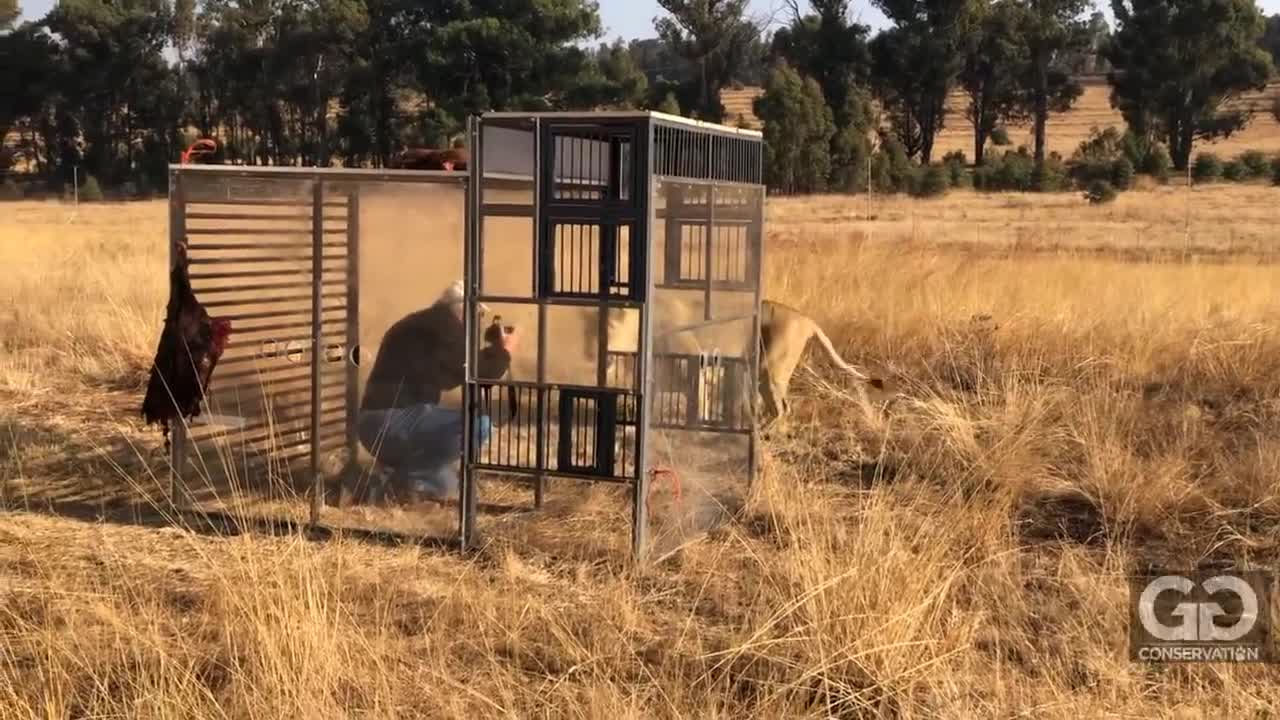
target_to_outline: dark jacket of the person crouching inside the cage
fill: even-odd
[[[498,379],[511,366],[511,354],[488,345],[477,354],[476,375]],[[447,304],[417,310],[383,336],[365,384],[361,410],[436,405],[445,391],[466,380],[466,329]]]

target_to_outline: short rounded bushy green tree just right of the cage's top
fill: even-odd
[[[824,190],[836,126],[818,81],[777,63],[755,100],[755,114],[764,120],[768,186],[786,195]]]

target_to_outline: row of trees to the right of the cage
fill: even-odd
[[[1185,170],[1196,142],[1249,123],[1253,108],[1239,100],[1263,90],[1280,60],[1280,17],[1253,0],[1112,0],[1114,28],[1088,0],[870,1],[891,22],[874,36],[850,20],[850,0],[791,0],[790,24],[772,37],[756,114],[768,182],[782,192],[957,179],[963,154],[936,163],[933,152],[955,91],[975,184],[1059,190],[1069,173],[1087,183]],[[1098,72],[1126,132],[1094,133],[1068,169],[1047,151],[1048,119],[1080,97],[1082,73]],[[1014,123],[1030,123],[1030,151],[988,158]],[[1103,172],[1102,159],[1132,168]]]

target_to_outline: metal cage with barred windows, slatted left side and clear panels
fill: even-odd
[[[486,474],[531,483],[539,506],[548,478],[630,484],[637,556],[658,446],[754,478],[760,135],[658,113],[489,113],[467,135],[466,172],[170,167],[170,246],[187,243],[196,295],[233,322],[202,418],[174,433],[175,498],[233,445],[246,473],[300,475],[320,523],[326,454],[358,451],[361,340],[376,331],[361,325],[361,249],[392,232],[361,218],[388,188],[401,206],[460,205],[462,547]],[[508,377],[476,375],[483,307],[536,327]],[[733,462],[708,451],[739,439]]]

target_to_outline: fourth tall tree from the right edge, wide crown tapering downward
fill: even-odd
[[[872,76],[908,155],[928,164],[978,14],[977,0],[874,0],[893,27],[872,40]]]

